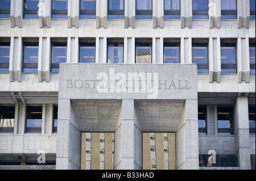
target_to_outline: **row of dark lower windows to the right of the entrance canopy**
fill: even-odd
[[[249,106],[249,132],[255,134],[255,106]],[[207,107],[199,106],[198,109],[199,134],[207,134]],[[218,134],[234,134],[233,107],[217,107]]]

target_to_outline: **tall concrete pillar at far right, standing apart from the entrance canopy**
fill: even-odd
[[[241,170],[250,170],[250,133],[248,99],[246,96],[237,97],[233,115],[238,166]]]

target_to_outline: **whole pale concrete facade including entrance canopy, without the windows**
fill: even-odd
[[[0,41],[10,42],[9,73],[0,73],[0,106],[15,107],[14,133],[0,133],[0,162],[37,162],[38,151],[44,150],[47,161],[56,162],[50,169],[81,169],[82,133],[113,132],[114,169],[143,169],[143,132],[173,132],[175,169],[209,169],[199,167],[199,155],[209,150],[236,155],[237,167],[221,169],[251,169],[255,134],[249,133],[248,107],[255,107],[255,74],[250,73],[249,41],[255,41],[255,19],[250,19],[249,0],[237,0],[233,20],[221,19],[220,0],[209,0],[209,19],[204,20],[192,19],[192,0],[180,1],[177,20],[163,18],[163,0],[152,0],[150,20],[135,19],[135,0],[125,0],[122,20],[107,18],[106,0],[96,1],[96,19],[90,20],[79,19],[79,0],[68,1],[67,19],[51,19],[51,1],[39,2],[43,5],[39,19],[23,19],[22,0],[11,0],[10,19],[0,19]],[[96,64],[79,64],[79,42],[86,38],[95,40]],[[25,39],[39,42],[38,73],[22,72]],[[124,64],[106,64],[108,39],[123,40]],[[150,65],[135,64],[135,41],[141,39],[152,43]],[[180,42],[179,65],[163,64],[163,43],[170,39]],[[207,74],[197,74],[196,65],[191,65],[194,39],[207,39]],[[236,74],[221,73],[222,39],[236,39]],[[51,73],[51,43],[63,40],[67,64],[60,65],[60,73]],[[158,96],[148,97],[154,91],[99,93],[97,87],[93,89],[97,74],[110,78],[113,68],[115,74],[126,76],[151,73],[152,80],[159,73]],[[86,80],[92,89],[84,88]],[[38,105],[43,108],[42,132],[28,134],[27,106]],[[200,105],[207,106],[208,134],[198,134]],[[218,134],[220,105],[233,107],[234,134]],[[59,107],[57,134],[52,133],[54,106]],[[10,168],[24,169],[0,166]]]

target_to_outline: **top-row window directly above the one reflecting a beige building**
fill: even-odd
[[[136,19],[152,19],[152,0],[136,0]]]

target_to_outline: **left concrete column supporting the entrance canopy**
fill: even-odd
[[[71,100],[59,99],[56,170],[80,169],[81,131]]]

